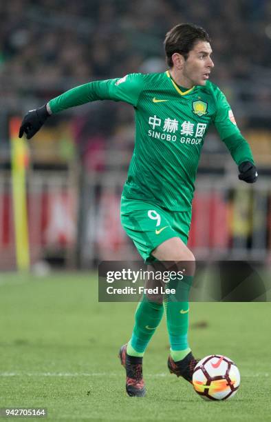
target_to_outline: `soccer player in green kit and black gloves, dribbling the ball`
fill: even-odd
[[[89,101],[125,101],[135,110],[135,148],[121,199],[121,222],[142,258],[186,262],[178,283],[191,284],[195,257],[186,246],[200,152],[213,123],[238,165],[239,179],[257,180],[247,141],[224,94],[208,79],[213,69],[210,38],[203,28],[180,24],[164,40],[169,70],[127,74],[64,92],[28,112],[19,137],[30,139],[51,114]],[[188,301],[166,301],[170,372],[191,382],[195,360],[188,344]],[[163,303],[145,296],[135,312],[129,342],[120,348],[129,396],[144,396],[142,358],[164,312]]]

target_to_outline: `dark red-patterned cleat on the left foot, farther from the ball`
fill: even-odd
[[[127,344],[120,348],[120,363],[126,370],[126,391],[131,397],[144,397],[146,395],[145,383],[142,376],[142,357],[129,356]]]

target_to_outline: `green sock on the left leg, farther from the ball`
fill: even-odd
[[[127,345],[127,354],[130,356],[143,356],[151,337],[162,319],[163,313],[162,303],[151,302],[146,297],[138,303],[138,308],[135,311],[133,334]]]

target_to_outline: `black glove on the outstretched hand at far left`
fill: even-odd
[[[50,114],[47,112],[46,104],[36,110],[30,110],[25,114],[25,117],[23,117],[23,121],[21,122],[19,138],[23,136],[23,133],[26,134],[27,139],[34,137],[34,134],[41,129],[41,126],[49,116]]]

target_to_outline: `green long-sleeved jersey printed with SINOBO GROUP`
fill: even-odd
[[[135,148],[123,196],[171,211],[191,208],[204,138],[211,123],[237,164],[252,161],[226,97],[210,81],[184,90],[169,71],[94,81],[52,99],[58,112],[88,101],[125,101],[135,110]]]

